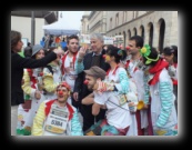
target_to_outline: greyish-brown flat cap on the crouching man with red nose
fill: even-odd
[[[89,70],[84,70],[84,72],[89,76],[94,76],[94,77],[101,78],[101,80],[104,80],[104,78],[107,76],[107,72],[97,66],[91,67]]]

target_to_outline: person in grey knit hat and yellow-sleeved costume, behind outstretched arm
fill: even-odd
[[[44,57],[43,47],[34,44],[32,47],[32,59],[42,59]],[[26,69],[23,74],[22,90],[24,91],[24,99],[28,102],[28,116],[24,121],[24,134],[31,134],[32,121],[39,104],[46,99],[43,94],[43,82],[42,82],[43,68]],[[24,102],[24,104],[26,104]],[[30,103],[29,103],[30,102]]]

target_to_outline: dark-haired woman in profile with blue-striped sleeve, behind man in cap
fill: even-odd
[[[128,77],[125,69],[121,66],[121,61],[123,61],[125,58],[127,58],[125,50],[119,49],[112,44],[108,46],[107,53],[104,54],[104,59],[105,59],[105,62],[110,64],[110,69],[107,71],[107,77],[104,79],[104,82],[107,84],[103,84],[103,87],[101,87],[102,91],[103,89],[107,89],[105,86],[110,86],[108,83],[111,83],[114,87],[114,89],[119,92],[119,94],[127,96],[129,92],[133,92],[132,82],[130,82],[130,78]],[[127,102],[129,102],[130,111],[132,113],[135,112],[137,104],[138,104],[137,89],[134,89],[134,94],[135,94],[135,98],[129,94],[127,99]]]

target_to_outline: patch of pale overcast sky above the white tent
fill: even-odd
[[[62,18],[61,14],[62,13]],[[67,23],[71,29],[81,29],[81,19],[84,11],[60,11],[59,21]]]

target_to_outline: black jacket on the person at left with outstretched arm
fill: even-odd
[[[24,102],[23,91],[21,88],[23,69],[44,67],[54,59],[57,59],[54,52],[49,53],[40,60],[36,60],[22,58],[18,53],[11,51],[11,106],[18,106]]]

